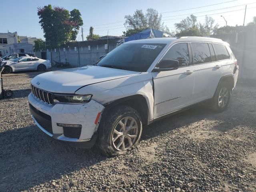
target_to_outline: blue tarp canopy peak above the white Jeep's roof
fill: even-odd
[[[136,33],[130,37],[126,37],[124,39],[124,42],[132,41],[132,40],[138,40],[138,39],[146,39],[149,37],[163,37],[164,32],[156,30],[156,29],[146,29],[142,32]]]

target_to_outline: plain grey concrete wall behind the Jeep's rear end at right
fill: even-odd
[[[239,64],[239,78],[256,80],[256,32],[213,35],[230,44]]]

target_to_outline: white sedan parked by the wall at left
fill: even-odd
[[[50,69],[52,64],[49,60],[39,59],[35,57],[19,57],[12,61],[6,61],[3,73],[9,74],[11,72],[24,71],[24,70],[38,70],[45,71]]]

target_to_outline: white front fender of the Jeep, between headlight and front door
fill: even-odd
[[[76,91],[76,94],[92,94],[92,99],[102,105],[109,104],[121,98],[142,95],[148,104],[149,120],[153,119],[153,82],[152,75],[148,72],[84,86]]]

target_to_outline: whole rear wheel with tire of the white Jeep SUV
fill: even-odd
[[[212,109],[216,112],[223,112],[230,102],[230,85],[228,82],[221,82],[212,99]]]

